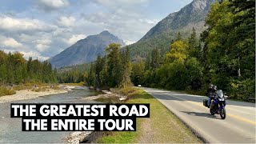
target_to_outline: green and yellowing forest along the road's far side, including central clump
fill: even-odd
[[[96,87],[149,86],[204,94],[210,83],[232,98],[255,95],[254,1],[215,2],[206,18],[207,29],[197,37],[180,33],[162,54],[161,46],[130,66],[129,50],[111,44],[104,58],[91,66],[88,84]],[[130,69],[132,70],[130,71]]]

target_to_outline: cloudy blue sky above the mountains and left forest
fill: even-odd
[[[88,35],[131,44],[192,0],[1,0],[0,50],[46,60]]]

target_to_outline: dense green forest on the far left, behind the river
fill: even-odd
[[[26,60],[15,52],[6,54],[0,50],[0,85],[22,84],[26,82],[57,82],[57,70],[49,62],[38,59]]]

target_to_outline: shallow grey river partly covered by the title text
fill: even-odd
[[[65,94],[52,94],[35,99],[0,104],[0,143],[63,143],[71,132],[62,131],[22,131],[22,118],[10,118],[10,103],[91,103],[93,101],[81,100],[98,92],[88,90],[87,87],[78,86]]]

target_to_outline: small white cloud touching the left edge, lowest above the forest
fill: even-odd
[[[16,41],[14,38],[7,38],[3,36],[0,36],[0,44],[2,46],[13,47],[13,48],[20,48],[23,46],[22,43]]]

